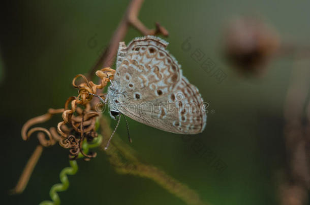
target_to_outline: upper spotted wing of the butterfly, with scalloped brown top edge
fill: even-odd
[[[180,65],[165,49],[168,43],[154,36],[135,38],[124,57],[118,55],[113,81],[119,90],[137,91],[140,100],[151,101],[172,92],[181,80]],[[119,49],[118,54],[123,55]],[[143,96],[142,96],[143,94]]]

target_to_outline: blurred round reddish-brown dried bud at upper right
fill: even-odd
[[[261,73],[279,45],[277,32],[255,18],[234,19],[225,33],[226,56],[243,73]]]

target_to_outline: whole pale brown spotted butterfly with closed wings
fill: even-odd
[[[207,119],[205,104],[167,45],[156,36],[136,37],[128,46],[119,43],[107,91],[109,113],[115,119],[125,114],[166,132],[201,133]]]

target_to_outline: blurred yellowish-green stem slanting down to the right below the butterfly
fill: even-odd
[[[103,136],[102,150],[105,150],[105,145],[109,140],[110,133],[112,132],[110,127],[110,121],[105,117],[101,117],[101,130]],[[199,195],[188,186],[178,182],[171,176],[167,175],[164,171],[158,168],[147,165],[139,160],[135,151],[125,144],[115,134],[113,141],[107,150],[105,150],[109,156],[110,163],[115,167],[116,171],[120,174],[131,174],[139,177],[144,177],[153,180],[158,183],[164,189],[174,194],[187,204],[202,205],[203,202]]]

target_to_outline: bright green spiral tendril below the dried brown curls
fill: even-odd
[[[87,143],[86,139],[83,142],[82,148],[85,153],[88,153],[89,148],[95,148],[98,147],[102,142],[102,136],[98,135],[97,138],[95,138],[92,142]],[[79,153],[78,158],[83,158],[84,156]],[[70,160],[70,166],[66,167],[63,170],[61,170],[59,174],[59,178],[61,181],[61,184],[54,184],[52,188],[49,191],[49,195],[52,199],[52,201],[42,201],[39,205],[59,205],[60,204],[60,198],[57,192],[60,191],[66,191],[69,188],[69,180],[67,175],[75,175],[78,171],[78,165],[76,160]]]

